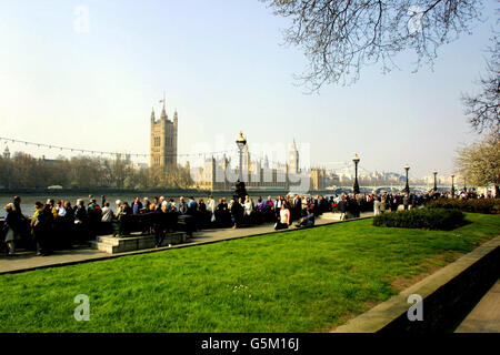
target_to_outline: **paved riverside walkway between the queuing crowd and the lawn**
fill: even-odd
[[[361,214],[361,219],[371,217],[373,213],[367,212]],[[321,217],[316,220],[316,225],[326,225],[331,223],[340,222],[331,213],[324,213]],[[350,221],[356,221],[350,220]],[[296,230],[294,226],[291,226],[288,231]],[[260,234],[268,233],[277,233],[284,232],[274,231],[273,224],[266,224],[252,227],[243,227],[243,229],[213,229],[213,230],[202,230],[196,232],[193,237],[189,240],[188,243],[177,244],[171,247],[159,247],[159,248],[150,248],[150,250],[140,250],[134,252],[119,253],[119,254],[107,254],[104,252],[100,252],[90,247],[79,247],[73,248],[71,251],[57,251],[50,256],[36,256],[33,252],[27,252],[22,254],[18,254],[16,256],[0,256],[0,275],[6,273],[18,273],[26,272],[34,268],[44,268],[44,267],[53,267],[53,266],[62,266],[62,265],[72,265],[84,262],[92,262],[99,260],[110,260],[114,257],[120,257],[124,255],[134,255],[134,254],[143,254],[143,253],[152,253],[162,250],[169,248],[179,248],[179,247],[188,247],[201,244],[210,244],[217,243],[221,241],[254,236]]]

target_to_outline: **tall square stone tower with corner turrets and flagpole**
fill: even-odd
[[[169,120],[167,111],[161,110],[160,120],[154,116],[154,109],[151,111],[151,162],[150,166],[177,168],[177,132],[178,132],[177,109],[173,112],[173,120]]]

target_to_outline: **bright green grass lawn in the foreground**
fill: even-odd
[[[0,275],[1,332],[317,332],[388,300],[396,278],[500,234],[467,214],[450,232],[371,220]],[[77,322],[74,296],[90,298]]]

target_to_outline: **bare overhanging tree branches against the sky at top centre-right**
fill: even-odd
[[[480,20],[480,0],[260,0],[291,19],[288,44],[303,49],[308,70],[298,79],[318,91],[323,84],[350,84],[360,70],[381,63],[397,68],[401,52],[417,54],[414,70],[432,65],[437,49],[470,33]]]

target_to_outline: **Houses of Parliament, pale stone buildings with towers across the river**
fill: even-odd
[[[172,120],[169,119],[164,102],[160,119],[157,120],[154,109],[151,111],[151,150],[150,168],[161,168],[166,171],[178,168],[178,125],[177,110]],[[243,172],[248,189],[250,190],[290,190],[298,185],[297,174],[309,176],[309,190],[321,191],[326,187],[324,169],[310,169],[300,171],[299,150],[296,142],[290,148],[288,161],[276,168],[270,168],[267,159],[252,161],[248,144],[243,151]],[[187,164],[189,165],[189,163]],[[231,166],[231,159],[223,155],[221,159],[211,156],[204,161],[203,166],[190,168],[191,179],[196,189],[209,191],[232,191],[234,176],[238,176],[239,166]]]

